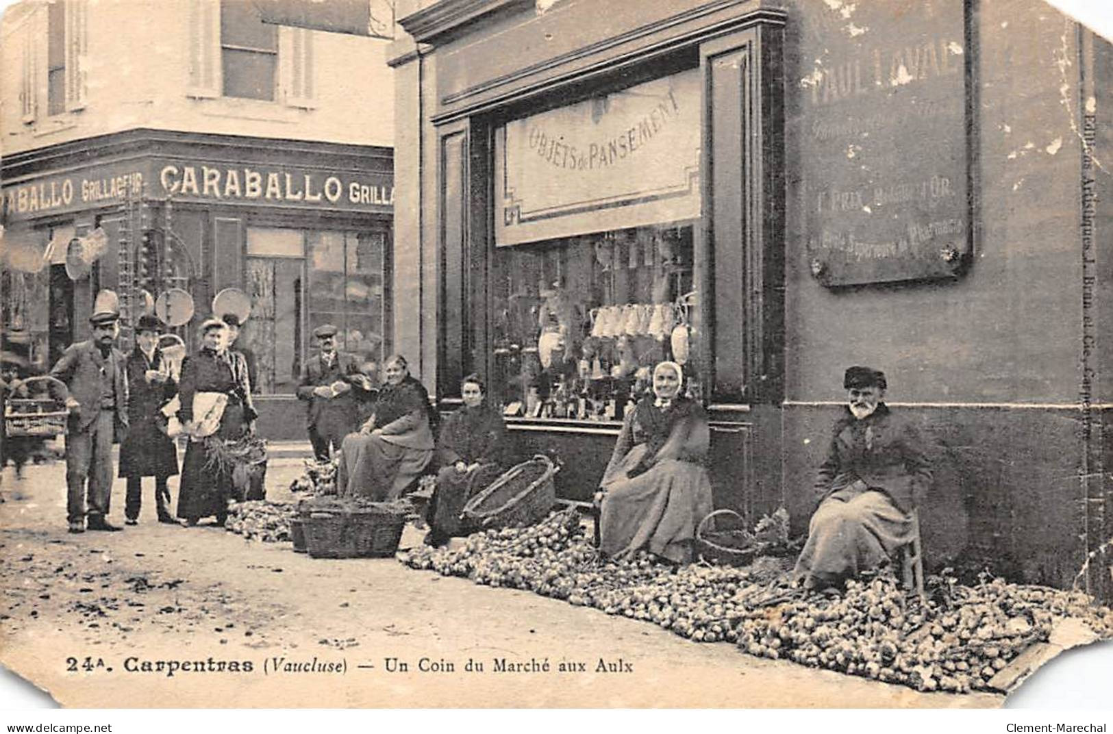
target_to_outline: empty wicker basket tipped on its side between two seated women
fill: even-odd
[[[460,517],[483,528],[534,525],[556,504],[553,477],[559,470],[548,456],[538,454],[472,497]]]

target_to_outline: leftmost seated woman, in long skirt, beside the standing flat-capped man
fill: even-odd
[[[386,360],[386,384],[359,433],[341,446],[336,487],[342,496],[396,499],[433,460],[429,393],[401,355]]]

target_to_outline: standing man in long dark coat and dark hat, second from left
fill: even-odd
[[[128,436],[120,445],[120,473],[128,480],[124,514],[128,525],[139,522],[142,477],[155,477],[158,522],[176,523],[170,513],[167,478],[178,473],[178,452],[159,426],[159,410],[178,391],[158,349],[160,324],[142,316],[136,326],[136,348],[128,358]]]

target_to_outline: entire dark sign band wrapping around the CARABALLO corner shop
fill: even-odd
[[[390,212],[394,206],[388,176],[157,158],[108,162],[12,184],[3,188],[3,204],[8,220],[19,221],[121,202],[129,195],[346,211]]]

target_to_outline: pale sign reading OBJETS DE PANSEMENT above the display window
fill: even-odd
[[[698,69],[509,122],[495,138],[496,245],[700,215]]]

